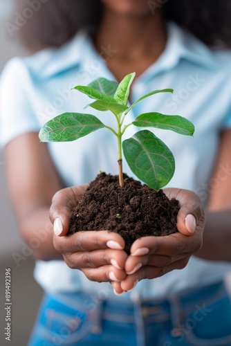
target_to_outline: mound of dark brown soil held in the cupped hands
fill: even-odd
[[[68,234],[111,230],[124,238],[129,254],[140,237],[176,233],[178,210],[178,201],[169,200],[163,190],[156,192],[126,174],[120,188],[118,176],[100,173],[73,209]]]

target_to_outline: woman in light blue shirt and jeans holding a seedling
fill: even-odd
[[[223,276],[231,270],[230,53],[210,51],[166,20],[193,28],[207,44],[227,44],[230,1],[227,8],[217,1],[214,7],[211,1],[163,2],[50,0],[41,6],[37,19],[41,15],[52,19],[53,13],[59,13],[66,31],[60,26],[55,37],[49,36],[54,28],[51,21],[43,36],[37,21],[40,30],[35,35],[41,44],[50,46],[53,41],[59,46],[75,29],[77,35],[61,48],[16,58],[3,72],[1,139],[6,145],[10,194],[21,235],[38,260],[35,277],[47,291],[31,346],[231,344],[230,299],[223,284]],[[75,15],[85,20],[82,30]],[[116,174],[113,139],[102,132],[100,139],[89,136],[87,146],[85,138],[46,146],[39,143],[37,131],[59,113],[84,112],[87,99],[71,93],[72,86],[100,76],[120,81],[131,71],[136,71],[131,102],[153,89],[173,87],[175,92],[173,97],[151,98],[134,109],[130,120],[152,106],[189,118],[196,132],[194,138],[179,139],[157,131],[176,157],[171,181],[176,189],[165,192],[180,200],[179,233],[138,239],[127,257],[123,239],[107,230],[65,237],[70,210],[98,168]],[[107,154],[102,155],[105,143]],[[126,165],[124,172],[132,175]],[[59,191],[71,185],[75,186]],[[201,203],[188,190],[203,201],[205,226]],[[53,194],[54,236],[48,221]],[[38,237],[44,235],[36,247],[34,230]]]

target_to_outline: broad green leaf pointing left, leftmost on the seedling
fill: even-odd
[[[68,142],[102,129],[104,124],[95,116],[84,113],[63,113],[39,131],[41,142]]]

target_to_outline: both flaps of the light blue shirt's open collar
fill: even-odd
[[[150,78],[154,74],[172,70],[180,60],[187,60],[206,69],[217,69],[220,66],[210,48],[172,22],[167,24],[167,37],[165,51],[140,77]],[[44,78],[53,77],[53,75],[81,64],[86,66],[86,62],[89,60],[102,60],[95,50],[87,30],[78,32],[61,48],[47,49],[43,52],[45,58],[44,63],[40,64],[39,75]]]

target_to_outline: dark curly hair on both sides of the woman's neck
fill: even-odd
[[[16,5],[20,13],[28,7],[28,1],[17,0]],[[231,47],[231,0],[155,0],[147,1],[147,6],[153,12],[162,7],[166,19],[186,28],[208,46]],[[83,26],[97,25],[101,14],[100,0],[48,0],[41,3],[19,33],[28,46],[35,46],[35,42],[37,46],[61,46]]]

